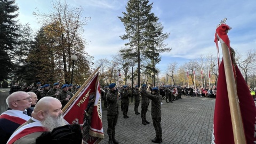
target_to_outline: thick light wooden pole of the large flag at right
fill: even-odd
[[[221,39],[220,39],[220,42],[222,47],[223,62],[224,62],[225,75],[226,75],[228,101],[229,101],[229,107],[230,107],[234,141],[236,144],[243,144],[243,143],[246,143],[246,140],[244,135],[244,127],[242,123],[241,110],[240,110],[239,101],[238,101],[236,82],[234,78],[230,53],[229,53],[228,46]]]

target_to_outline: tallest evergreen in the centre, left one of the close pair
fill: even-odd
[[[147,22],[157,20],[157,17],[154,17],[154,13],[150,13],[153,3],[148,3],[148,0],[130,0],[126,6],[127,13],[122,12],[124,16],[118,17],[123,22],[126,32],[121,38],[129,40],[129,42],[125,43],[125,45],[130,46],[130,55],[127,55],[127,57],[137,57],[138,84],[140,84],[141,53],[146,48],[145,31]]]

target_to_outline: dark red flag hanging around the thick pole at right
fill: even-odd
[[[246,143],[254,143],[256,107],[252,95],[247,87],[244,77],[238,67],[235,67],[237,79],[237,95],[241,109],[242,121],[244,126]],[[213,120],[213,138],[212,143],[234,143],[233,128],[228,101],[227,83],[223,60],[219,67],[218,91],[215,101],[214,120]]]

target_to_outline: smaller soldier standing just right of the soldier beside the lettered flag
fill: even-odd
[[[129,118],[129,116],[127,116],[127,112],[129,109],[129,97],[130,97],[130,92],[128,91],[128,87],[127,85],[124,85],[124,91],[123,91],[123,115],[124,118]]]

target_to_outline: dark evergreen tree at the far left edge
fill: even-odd
[[[0,81],[7,79],[12,70],[11,57],[19,36],[17,20],[14,20],[18,17],[18,10],[14,0],[0,0]]]

